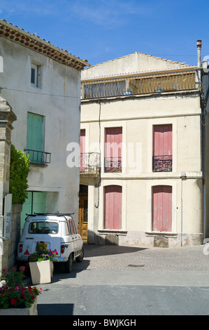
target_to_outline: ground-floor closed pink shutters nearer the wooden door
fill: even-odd
[[[122,227],[122,187],[109,185],[105,187],[105,228],[121,229]]]

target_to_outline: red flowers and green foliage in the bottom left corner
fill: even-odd
[[[24,270],[20,267],[19,272],[15,268],[10,271],[2,270],[1,280],[5,282],[0,287],[0,308],[29,308],[36,297],[43,292],[42,289],[24,286]]]

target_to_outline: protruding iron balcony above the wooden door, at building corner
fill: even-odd
[[[99,152],[85,152],[80,154],[80,174],[97,176],[100,169]]]

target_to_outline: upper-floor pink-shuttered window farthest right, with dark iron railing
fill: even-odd
[[[172,143],[172,125],[154,125],[152,159],[154,172],[172,171]]]

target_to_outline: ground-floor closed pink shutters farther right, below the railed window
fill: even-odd
[[[172,228],[172,187],[152,187],[152,230],[171,232]]]

